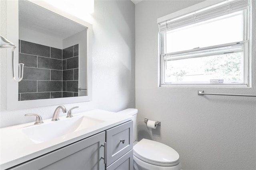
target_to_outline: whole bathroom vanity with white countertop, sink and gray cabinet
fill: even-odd
[[[129,115],[97,109],[44,122],[1,129],[1,170],[132,169],[133,121]]]

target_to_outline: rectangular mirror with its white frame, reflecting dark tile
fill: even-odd
[[[44,1],[7,3],[7,37],[24,63],[22,81],[7,77],[7,109],[90,101],[92,25]]]

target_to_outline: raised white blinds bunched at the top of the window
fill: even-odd
[[[248,0],[226,0],[159,23],[159,32],[170,31],[248,8]]]

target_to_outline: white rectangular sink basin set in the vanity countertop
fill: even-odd
[[[59,121],[49,121],[49,123],[43,123],[41,125],[24,127],[21,131],[34,143],[42,143],[56,137],[98,125],[102,122],[104,121],[86,116],[64,117]]]

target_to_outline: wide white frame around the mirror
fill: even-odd
[[[30,0],[30,2],[52,11],[60,16],[68,18],[80,25],[88,28],[87,31],[87,96],[69,97],[69,98],[55,98],[55,99],[42,99],[42,100],[26,100],[18,101],[18,82],[14,82],[12,78],[12,49],[7,48],[7,97],[6,109],[26,109],[33,107],[52,106],[59,104],[69,104],[78,102],[87,102],[92,100],[92,24],[81,20],[71,14],[68,14],[58,8],[51,6],[44,1]],[[19,24],[18,24],[18,0],[7,1],[7,37],[9,41],[18,47],[19,39]],[[15,49],[15,66],[18,68],[18,49]],[[16,69],[17,71],[18,69]],[[16,72],[16,75],[18,72]]]

